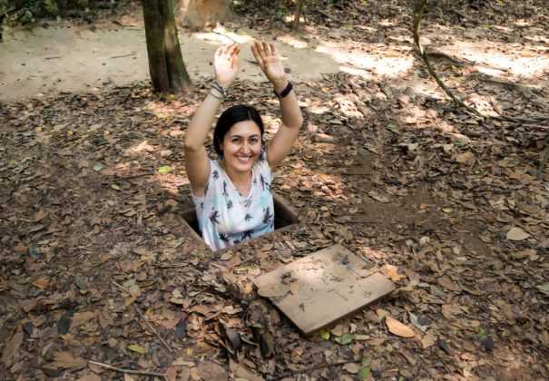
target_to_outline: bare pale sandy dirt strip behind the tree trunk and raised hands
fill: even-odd
[[[133,14],[93,25],[66,20],[43,22],[31,28],[5,32],[0,44],[0,102],[14,102],[52,92],[97,92],[113,86],[144,83],[150,79],[142,18]],[[250,64],[250,42],[270,38],[268,33],[230,23],[211,31],[180,30],[181,53],[193,79],[211,78],[211,58],[220,44],[242,45],[240,79],[263,82]],[[236,26],[236,27],[235,27]],[[291,43],[291,41],[289,41]],[[338,63],[328,54],[302,44],[279,44],[293,77],[319,78],[338,73]]]

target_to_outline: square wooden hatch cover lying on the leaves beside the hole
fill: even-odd
[[[257,278],[270,298],[305,335],[327,327],[389,294],[395,285],[341,245],[330,246]]]

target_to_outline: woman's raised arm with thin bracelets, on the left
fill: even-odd
[[[239,70],[240,46],[238,44],[221,46],[213,61],[216,83],[192,115],[185,134],[185,169],[191,182],[192,193],[201,197],[210,177],[210,161],[204,143],[208,138],[211,124],[218,112],[225,91],[236,79]]]

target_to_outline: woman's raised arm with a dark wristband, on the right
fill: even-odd
[[[282,124],[267,144],[267,160],[270,168],[274,169],[289,154],[291,147],[298,139],[303,115],[274,44],[256,41],[251,44],[251,53],[279,97]]]

